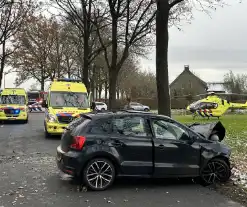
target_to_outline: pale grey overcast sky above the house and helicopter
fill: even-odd
[[[247,72],[247,2],[231,1],[231,6],[212,12],[211,18],[205,13],[194,12],[195,19],[192,24],[184,24],[183,31],[170,29],[170,81],[186,64],[208,82],[222,81],[229,70]],[[155,52],[141,63],[143,68],[155,72]],[[13,82],[13,75],[7,75],[6,87],[13,87]],[[22,86],[28,89],[32,83],[28,81]]]

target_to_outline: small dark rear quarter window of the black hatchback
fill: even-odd
[[[109,134],[111,122],[109,119],[96,120],[89,129],[90,134]]]

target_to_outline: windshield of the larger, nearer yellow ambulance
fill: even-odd
[[[51,92],[50,105],[52,107],[89,108],[87,93]]]

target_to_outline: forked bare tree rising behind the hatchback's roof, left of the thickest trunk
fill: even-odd
[[[100,5],[104,2],[101,1]],[[101,44],[104,47],[105,61],[109,70],[109,108],[113,109],[116,107],[117,77],[129,53],[143,55],[147,52],[145,49],[153,44],[151,34],[154,31],[153,20],[156,11],[153,0],[107,0],[104,8],[108,12],[103,12],[110,14],[110,17],[105,16],[103,20],[107,19],[111,25],[112,45],[111,48],[106,48],[103,41]],[[101,13],[102,8],[98,9],[96,16],[102,16]],[[99,21],[95,24],[102,25]],[[109,33],[109,30],[102,32],[102,28],[99,27],[97,31],[100,40],[102,34]]]

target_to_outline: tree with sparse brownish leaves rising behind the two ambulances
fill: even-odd
[[[47,78],[56,77],[56,68],[52,68],[52,57],[57,38],[57,22],[44,16],[30,16],[15,36],[16,48],[11,57],[13,72],[17,72],[16,85],[34,78],[44,90]],[[56,64],[56,63],[55,63]]]

